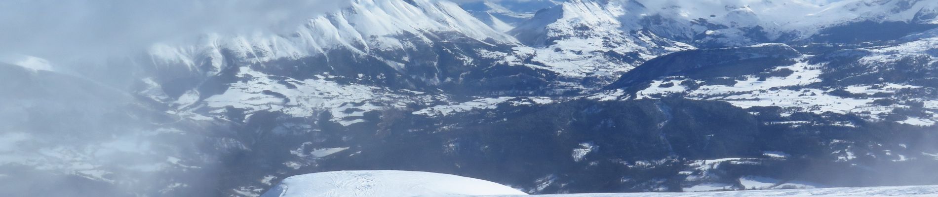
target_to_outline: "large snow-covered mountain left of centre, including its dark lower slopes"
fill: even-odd
[[[476,51],[456,47],[497,48],[516,42],[475,20],[454,3],[360,0],[351,7],[310,19],[290,34],[205,35],[194,43],[158,44],[144,57],[151,59],[144,63],[152,65],[143,66],[174,74],[172,78],[156,78],[160,83],[176,79],[194,79],[193,83],[198,83],[226,70],[253,65],[286,77],[302,73],[305,79],[310,77],[305,74],[335,72],[386,86],[414,88],[439,85],[449,77],[440,70],[443,65],[437,67],[428,59],[446,58],[452,61],[448,63],[453,67],[450,69],[462,70],[468,66],[466,61],[472,60],[467,55],[476,55]],[[435,50],[451,54],[440,57],[443,54]],[[421,69],[424,67],[433,71]],[[383,73],[386,70],[392,73]],[[169,93],[175,96],[182,92]]]

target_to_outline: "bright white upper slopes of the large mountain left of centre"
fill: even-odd
[[[496,43],[517,42],[449,1],[356,0],[350,7],[311,18],[287,34],[208,33],[194,41],[158,43],[148,53],[154,64],[184,66],[212,76],[223,66],[230,66],[223,61],[226,58],[223,50],[248,63],[295,60],[330,49],[349,49],[364,55],[429,43],[436,36],[430,33],[455,33]],[[212,66],[200,67],[200,60],[204,59],[211,60]]]

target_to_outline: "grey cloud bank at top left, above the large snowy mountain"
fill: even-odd
[[[347,0],[4,0],[0,53],[47,59],[144,49],[206,32],[281,31]]]

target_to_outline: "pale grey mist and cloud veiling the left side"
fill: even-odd
[[[216,131],[225,122],[188,120],[135,97],[123,86],[139,80],[132,65],[107,60],[209,33],[287,34],[348,4],[0,1],[0,195],[218,194],[225,152],[211,147],[230,139]]]

